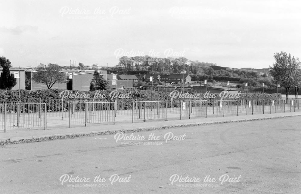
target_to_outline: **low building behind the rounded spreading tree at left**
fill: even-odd
[[[42,70],[42,71],[49,71],[49,70]],[[26,86],[26,90],[41,90],[41,89],[48,89],[47,85],[44,83],[39,83],[39,82],[35,82],[33,81],[33,73],[39,73],[41,71],[26,71],[25,75],[27,77],[27,79],[29,79],[30,83],[28,86]],[[67,81],[67,73],[66,72],[62,72],[60,71],[60,73],[62,75],[64,75],[64,77],[66,77],[66,81]],[[51,89],[63,89],[66,90],[67,89],[67,84],[65,83],[55,83]]]

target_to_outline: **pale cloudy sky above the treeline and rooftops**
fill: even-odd
[[[301,1],[0,0],[0,56],[13,67],[73,61],[115,66],[121,56],[185,57],[267,68],[301,57]]]

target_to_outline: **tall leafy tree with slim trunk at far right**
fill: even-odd
[[[299,59],[282,51],[274,54],[274,58],[276,62],[273,63],[270,73],[274,82],[276,84],[280,83],[281,87],[285,88],[286,97],[288,98],[289,89],[295,86],[294,78],[300,65]]]

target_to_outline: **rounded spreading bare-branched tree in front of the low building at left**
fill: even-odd
[[[66,83],[66,73],[61,72],[61,67],[57,64],[39,64],[36,72],[33,73],[32,80],[43,83],[50,89],[55,83]]]

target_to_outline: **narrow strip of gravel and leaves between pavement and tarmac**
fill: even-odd
[[[129,130],[104,131],[104,132],[99,132],[99,133],[91,132],[91,133],[72,134],[72,135],[63,135],[63,136],[49,136],[49,137],[38,137],[38,138],[32,138],[32,139],[20,139],[20,140],[14,140],[14,141],[7,139],[5,141],[0,141],[0,146],[9,145],[9,144],[44,142],[44,141],[50,141],[50,140],[55,140],[55,139],[74,139],[74,138],[79,138],[79,137],[111,135],[111,134],[116,134],[119,132],[135,133],[135,132],[140,132],[140,131],[164,130],[164,129],[170,129],[170,128],[193,127],[193,126],[200,126],[200,125],[235,123],[235,122],[245,122],[245,121],[261,121],[261,120],[268,120],[268,119],[278,119],[278,118],[297,117],[297,116],[301,116],[301,115],[287,115],[287,116],[279,116],[279,117],[272,117],[272,118],[254,118],[254,119],[243,119],[243,120],[234,120],[234,121],[219,121],[219,122],[208,122],[208,123],[169,125],[169,126],[162,126],[162,127],[147,127],[147,128],[137,128],[137,129],[129,129]]]

